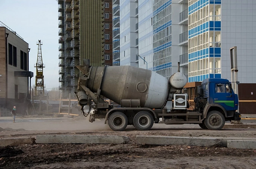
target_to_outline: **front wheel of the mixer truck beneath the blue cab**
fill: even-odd
[[[225,124],[225,117],[219,111],[210,111],[205,119],[205,126],[209,130],[221,130]]]

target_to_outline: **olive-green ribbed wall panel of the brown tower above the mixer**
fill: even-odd
[[[92,66],[104,66],[103,1],[80,1],[80,64],[90,59]]]

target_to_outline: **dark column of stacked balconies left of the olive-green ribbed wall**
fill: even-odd
[[[79,70],[79,0],[58,0],[59,3],[59,89],[63,97],[73,95],[78,86]]]

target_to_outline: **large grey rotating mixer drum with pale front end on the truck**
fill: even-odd
[[[104,67],[91,67],[87,87],[97,92]],[[168,79],[156,72],[133,66],[107,66],[101,95],[120,104],[121,99],[139,99],[140,107],[161,108],[168,97]]]

